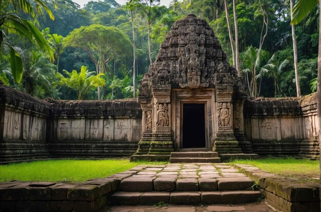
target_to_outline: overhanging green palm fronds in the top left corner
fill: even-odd
[[[13,12],[8,8],[13,8]],[[35,9],[34,9],[35,7]],[[50,56],[50,60],[54,60],[53,51],[46,41],[42,33],[31,22],[27,21],[17,14],[22,11],[29,14],[37,23],[36,16],[43,14],[45,10],[49,17],[54,20],[54,16],[50,9],[42,0],[2,0],[0,1],[0,46],[3,44],[9,50],[9,59],[12,76],[15,82],[20,82],[23,75],[23,61],[21,54],[10,43],[5,41],[7,33],[14,33],[27,38],[30,42],[35,41],[39,47],[45,49]]]

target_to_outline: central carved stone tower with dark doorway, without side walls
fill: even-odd
[[[174,23],[139,85],[143,135],[132,158],[166,159],[184,149],[253,153],[244,136],[246,98],[211,27],[187,15]]]

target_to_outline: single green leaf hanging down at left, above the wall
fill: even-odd
[[[20,83],[22,79],[22,74],[24,71],[21,56],[12,46],[9,46],[9,49],[10,49],[10,53],[9,53],[10,67],[11,67],[13,80],[17,83]]]

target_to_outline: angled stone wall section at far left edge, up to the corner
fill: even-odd
[[[0,163],[47,158],[48,115],[46,101],[0,86]]]

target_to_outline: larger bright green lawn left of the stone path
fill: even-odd
[[[105,178],[142,164],[165,164],[129,160],[47,160],[0,165],[0,182],[22,181],[73,181],[82,182]]]

